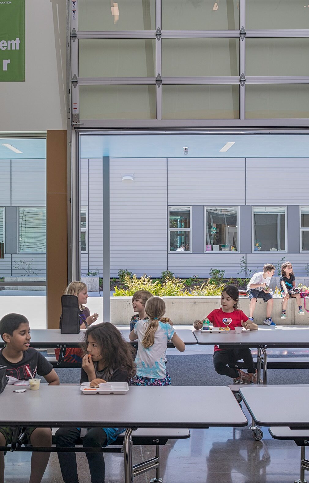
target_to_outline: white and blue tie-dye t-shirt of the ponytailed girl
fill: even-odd
[[[165,379],[165,354],[167,342],[170,341],[175,333],[175,329],[170,324],[159,321],[159,326],[155,332],[154,344],[148,349],[142,345],[144,334],[148,327],[148,320],[138,320],[134,326],[134,334],[138,337],[138,348],[135,357],[136,375],[155,379]]]

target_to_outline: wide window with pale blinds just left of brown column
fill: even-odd
[[[18,208],[18,253],[46,253],[46,208]]]

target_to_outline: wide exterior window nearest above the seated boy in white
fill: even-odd
[[[286,251],[286,206],[253,207],[253,251]]]

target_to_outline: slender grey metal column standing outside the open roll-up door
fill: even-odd
[[[103,322],[110,322],[109,156],[103,163]]]

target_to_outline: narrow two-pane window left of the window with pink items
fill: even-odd
[[[169,207],[169,251],[191,251],[191,207]]]

